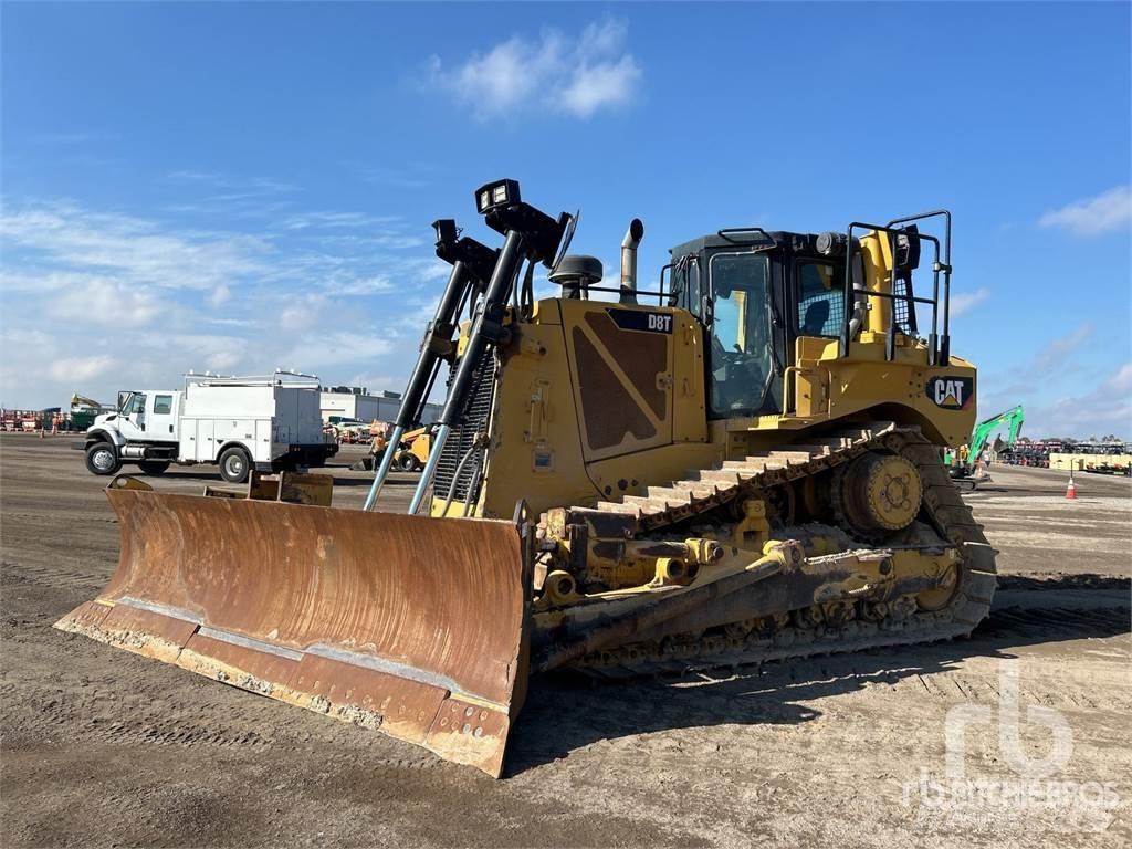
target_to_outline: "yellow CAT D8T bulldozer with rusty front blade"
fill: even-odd
[[[511,180],[475,199],[504,241],[435,224],[452,272],[389,441],[447,393],[409,514],[372,509],[392,452],[362,511],[317,475],[119,478],[118,571],[58,627],[499,775],[532,672],[789,661],[987,615],[994,551],[941,462],[976,389],[949,213],[720,230],[645,291],[640,221],[603,285],[566,252],[576,216]],[[560,297],[534,298],[540,263]]]

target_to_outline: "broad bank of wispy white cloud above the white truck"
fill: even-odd
[[[297,368],[334,384],[391,375],[376,388],[400,388],[449,266],[411,247],[395,216],[285,218],[306,226],[203,232],[177,218],[6,198],[3,403],[43,408],[76,391],[112,398],[130,386],[175,387],[189,369]],[[397,308],[388,309],[381,299],[394,281]]]

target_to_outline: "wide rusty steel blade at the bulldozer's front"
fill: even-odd
[[[55,627],[499,775],[528,674],[515,525],[106,495],[118,571]]]

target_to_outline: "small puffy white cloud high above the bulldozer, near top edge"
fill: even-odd
[[[589,118],[627,103],[643,76],[624,50],[627,29],[604,19],[577,38],[555,29],[538,40],[516,35],[451,70],[434,57],[432,83],[480,120],[532,108]]]

